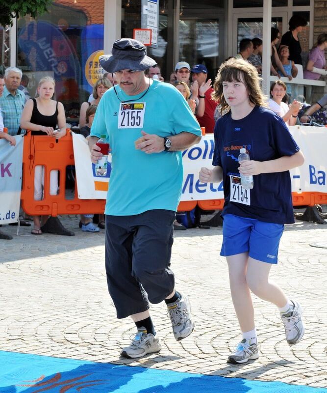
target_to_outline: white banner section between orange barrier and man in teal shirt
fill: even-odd
[[[91,153],[83,135],[73,134],[73,148],[79,199],[106,199],[111,172],[111,154],[108,156],[107,174],[103,177],[95,173],[95,164],[91,162]]]

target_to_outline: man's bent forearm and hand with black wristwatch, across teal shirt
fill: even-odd
[[[138,150],[142,150],[147,154],[161,153],[165,150],[165,140],[163,137],[159,137],[156,134],[147,134],[144,131],[141,131],[141,133],[143,136],[142,138],[145,139],[145,141],[136,145]],[[201,137],[185,131],[177,135],[172,135],[169,137],[169,140],[172,142],[172,146],[169,151],[181,151],[187,149],[195,143],[199,143]]]

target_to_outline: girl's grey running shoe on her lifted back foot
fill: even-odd
[[[294,309],[286,314],[280,314],[285,328],[286,341],[296,344],[304,335],[304,326],[302,321],[302,308],[296,300],[292,300]]]

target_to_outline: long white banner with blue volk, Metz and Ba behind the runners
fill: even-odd
[[[290,132],[305,157],[302,167],[290,171],[292,192],[327,193],[325,152],[327,129],[324,127],[293,126],[290,127]],[[84,137],[82,138],[83,140],[81,136],[73,134],[78,197],[80,199],[105,199],[106,191],[96,191],[95,187],[99,182],[108,183],[109,173],[105,178],[95,176],[89,148]],[[181,201],[224,198],[223,182],[203,184],[199,181],[201,167],[213,168],[213,152],[213,134],[203,136],[200,143],[182,152],[184,177]],[[109,155],[109,161],[111,163],[111,155]],[[99,185],[97,187],[99,188]]]

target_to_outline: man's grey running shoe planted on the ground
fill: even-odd
[[[148,353],[159,352],[161,344],[159,338],[147,333],[144,327],[137,329],[137,334],[133,338],[129,347],[122,349],[121,355],[125,358],[141,358]]]

